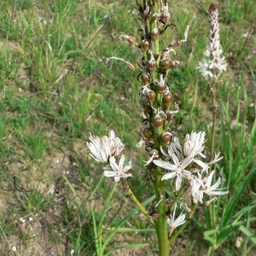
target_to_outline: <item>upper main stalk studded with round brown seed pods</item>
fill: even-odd
[[[185,39],[169,43],[163,49],[159,49],[160,38],[166,29],[170,26],[175,27],[174,24],[169,23],[171,15],[168,5],[162,0],[142,0],[137,1],[137,5],[140,13],[138,19],[141,22],[138,30],[141,42],[126,35],[122,35],[121,38],[136,45],[142,52],[138,61],[141,73],[137,76],[137,80],[141,83],[139,98],[148,119],[142,133],[146,149],[151,148],[160,153],[160,146],[166,147],[166,144],[172,141],[172,133],[168,125],[178,111],[178,109],[172,110],[173,96],[167,83],[172,70],[179,66],[179,62],[173,61],[172,56],[175,54],[174,49],[187,40],[187,33],[185,32]],[[161,154],[155,152],[154,157],[160,159]],[[154,172],[153,164],[150,170]]]

